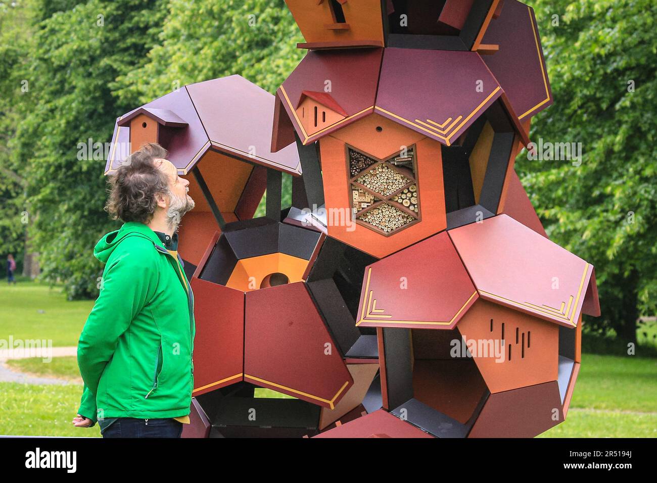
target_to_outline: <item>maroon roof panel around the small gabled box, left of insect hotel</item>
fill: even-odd
[[[339,49],[310,51],[292,74],[284,81],[277,94],[283,101],[288,116],[294,124],[299,137],[306,143],[304,131],[295,118],[295,109],[303,91],[326,92],[348,116],[374,108],[376,83],[381,66],[383,49]],[[327,84],[330,81],[330,84]],[[330,89],[327,91],[327,89]],[[347,126],[351,122],[369,114],[362,112],[348,121],[309,136],[318,139],[323,135]]]

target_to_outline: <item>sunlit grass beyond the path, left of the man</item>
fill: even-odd
[[[0,283],[0,339],[52,340],[53,347],[76,346],[93,300],[69,302],[60,287],[18,281]]]

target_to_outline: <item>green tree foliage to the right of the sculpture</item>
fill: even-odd
[[[516,169],[551,239],[596,267],[602,317],[587,327],[635,342],[637,317],[657,308],[657,4],[532,5],[555,97],[532,140],[581,142],[583,157]]]

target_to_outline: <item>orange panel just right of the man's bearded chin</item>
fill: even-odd
[[[197,198],[195,196],[192,196],[192,198],[194,198],[194,202],[198,207]],[[183,260],[187,260],[194,265],[198,265],[198,262],[200,262],[215,231],[221,231],[212,213],[196,210],[197,208],[194,208],[194,210],[183,216],[178,231],[178,252]],[[237,217],[232,213],[222,213],[222,215],[226,223],[237,221]]]

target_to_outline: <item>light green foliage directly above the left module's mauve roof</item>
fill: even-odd
[[[283,0],[170,0],[148,63],[125,71],[116,91],[147,103],[181,85],[239,74],[273,93],[304,56],[301,41]]]

